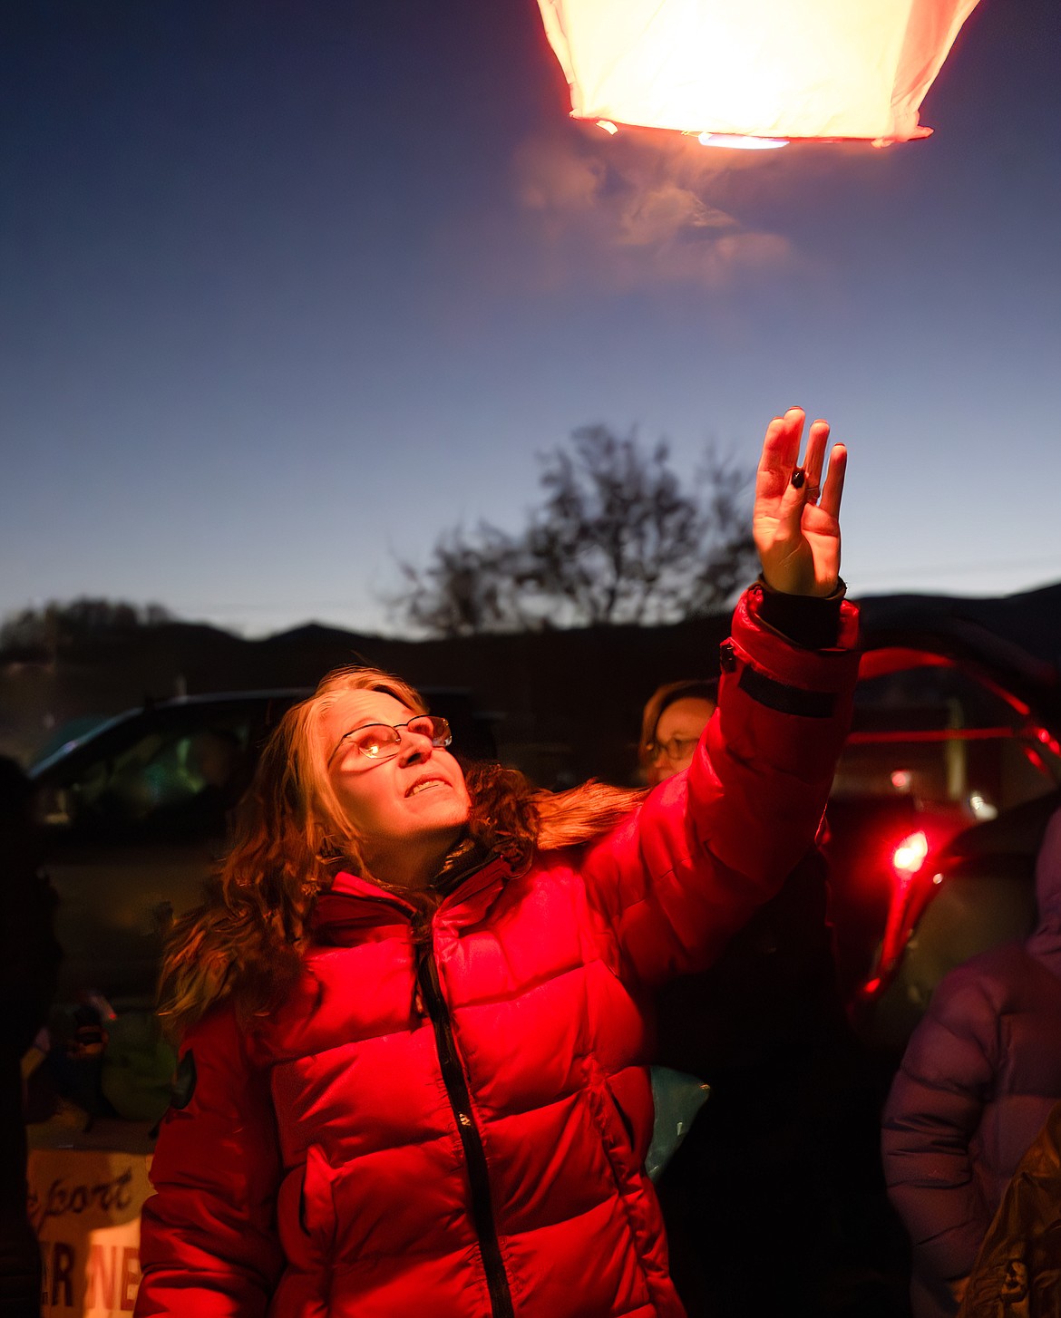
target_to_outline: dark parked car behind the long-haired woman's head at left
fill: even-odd
[[[45,863],[59,895],[58,1000],[90,990],[116,1008],[153,1002],[162,940],[200,900],[228,812],[269,731],[310,692],[149,702],[75,737],[30,768]],[[490,754],[489,716],[465,691],[427,691],[467,754]]]

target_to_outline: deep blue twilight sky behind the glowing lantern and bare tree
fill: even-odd
[[[393,630],[395,556],[605,422],[851,449],[855,594],[1061,577],[1061,7],[982,0],[887,150],[567,117],[534,0],[9,0],[0,616]]]

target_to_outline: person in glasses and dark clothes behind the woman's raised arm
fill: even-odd
[[[716,700],[709,679],[652,693],[645,782],[688,768]],[[886,1306],[883,1269],[866,1263],[887,1236],[873,1210],[867,1218],[867,1205],[883,1201],[878,1118],[838,991],[821,851],[809,847],[716,963],[664,985],[656,1006],[654,1060],[710,1091],[659,1184],[672,1275],[692,1318],[822,1314],[840,1268],[853,1293],[833,1297],[838,1305],[859,1318]]]

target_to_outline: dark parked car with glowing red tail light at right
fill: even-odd
[[[902,1048],[948,969],[1027,931],[1029,862],[992,863],[990,840],[1049,812],[1058,730],[1056,671],[979,627],[867,635],[826,851],[842,987],[875,1045]]]

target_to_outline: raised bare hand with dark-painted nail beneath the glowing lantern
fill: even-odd
[[[826,596],[840,580],[840,500],[847,449],[833,444],[822,486],[829,423],[811,426],[800,468],[804,419],[801,407],[789,407],[767,427],[751,529],[768,585],[786,594]],[[796,474],[793,484],[799,471],[803,476]]]

